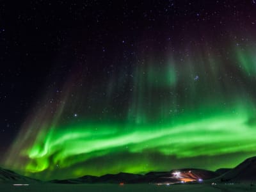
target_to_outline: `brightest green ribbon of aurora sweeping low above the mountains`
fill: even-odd
[[[90,128],[90,125],[67,127],[60,132],[56,131],[56,134],[48,134],[45,140],[36,141],[35,143],[40,144],[34,145],[33,148],[29,149],[28,156],[35,161],[38,159],[38,164],[42,164],[44,168],[47,168],[45,164],[47,164],[49,157],[58,152],[60,148],[63,148],[63,150],[56,155],[54,163],[61,162],[63,163],[61,164],[62,167],[65,167],[65,164],[70,166],[70,163],[65,162],[65,159],[70,156],[84,154],[84,160],[86,160],[91,156],[97,156],[98,153],[100,155],[104,154],[104,150],[106,152],[108,150],[122,150],[126,146],[129,146],[131,152],[134,153],[142,152],[145,148],[159,148],[158,150],[166,155],[179,154],[180,157],[215,155],[227,152],[226,144],[222,147],[216,145],[211,149],[204,148],[204,150],[200,150],[199,154],[191,151],[191,147],[200,147],[208,144],[215,145],[220,140],[225,141],[224,143],[234,143],[234,141],[243,143],[244,141],[253,140],[255,131],[246,125],[246,120],[247,118],[241,117],[241,115],[234,115],[229,118],[216,116],[199,122],[173,127],[159,127],[158,129],[154,126],[150,127],[150,125],[145,125],[146,129],[131,125],[129,129],[132,129],[132,131],[130,132],[120,132],[113,125],[109,125],[109,127],[96,125],[98,127],[97,131]],[[230,134],[228,127],[233,127],[232,134]],[[70,129],[74,131],[70,133]],[[189,139],[187,135],[184,135],[184,132],[188,134]],[[205,132],[209,135],[205,135]],[[94,134],[97,134],[97,139],[93,138]],[[237,137],[244,139],[237,140]],[[172,138],[172,140],[168,140],[168,138]],[[166,150],[166,147],[171,147],[172,145],[175,145],[174,149]],[[250,148],[246,146],[231,146],[228,147],[228,150],[237,152],[237,150],[244,148],[244,150],[250,151],[253,150],[255,145]],[[43,163],[44,160],[45,163]],[[39,170],[41,171],[42,168],[40,167]],[[37,171],[37,168],[35,168],[35,171]]]

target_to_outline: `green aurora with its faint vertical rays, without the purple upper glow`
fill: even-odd
[[[4,164],[45,180],[235,166],[256,152],[256,49],[229,50],[228,61],[207,49],[144,58],[105,82],[71,72],[61,92],[44,92]]]

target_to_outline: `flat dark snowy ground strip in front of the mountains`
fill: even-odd
[[[12,191],[26,191],[26,192],[40,192],[40,191],[53,191],[53,192],[72,192],[72,191],[122,191],[122,192],[136,192],[136,191],[189,191],[189,192],[240,192],[240,191],[256,191],[256,186],[234,184],[234,185],[216,185],[211,186],[210,184],[193,184],[193,185],[170,185],[170,186],[157,186],[153,184],[125,184],[124,186],[113,185],[113,184],[30,184],[29,186],[13,186],[12,184],[0,184],[1,192],[12,192]]]

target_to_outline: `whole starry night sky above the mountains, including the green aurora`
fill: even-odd
[[[1,1],[0,166],[49,180],[256,155],[256,1]]]

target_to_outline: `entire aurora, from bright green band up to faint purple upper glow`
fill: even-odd
[[[178,3],[170,2],[173,7],[163,16],[173,17],[166,19],[170,24],[154,23],[148,29],[150,24],[142,21],[145,26],[135,37],[128,32],[116,37],[109,29],[115,24],[102,24],[103,32],[93,33],[120,39],[98,45],[98,36],[88,44],[79,33],[81,40],[72,49],[51,56],[45,85],[2,164],[49,180],[189,167],[215,170],[255,156],[256,25],[244,19],[253,13],[244,5],[242,16],[231,17],[229,8],[219,12],[223,6],[218,4],[211,9],[200,5],[206,8],[198,13],[195,3],[188,20],[180,17],[180,10],[188,12],[186,3],[179,15]],[[147,10],[153,17],[150,5],[145,9],[144,17]],[[74,31],[71,42],[76,42]],[[69,57],[74,47],[76,60]]]

